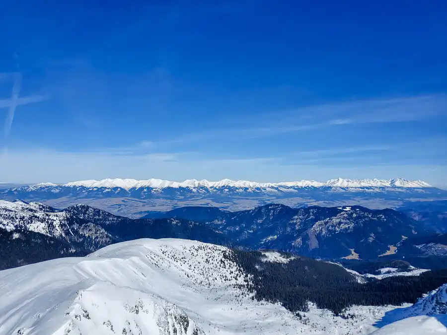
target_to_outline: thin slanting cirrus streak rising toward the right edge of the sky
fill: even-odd
[[[240,128],[235,124],[234,127],[229,126],[224,130],[198,131],[167,141],[154,141],[153,144],[188,143],[227,136],[241,139],[261,138],[353,124],[415,122],[446,115],[447,95],[369,99],[302,107],[285,113],[264,114],[256,118],[261,122],[254,127]]]

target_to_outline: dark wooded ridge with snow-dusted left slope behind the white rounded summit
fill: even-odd
[[[0,237],[3,268],[83,256],[139,238],[182,238],[232,245],[224,234],[190,220],[130,219],[86,205],[57,210],[24,201],[0,201]]]

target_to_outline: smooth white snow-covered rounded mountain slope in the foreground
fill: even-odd
[[[310,305],[304,324],[237,287],[244,275],[225,252],[142,239],[0,271],[0,335],[369,334],[396,308],[357,306],[344,320]]]

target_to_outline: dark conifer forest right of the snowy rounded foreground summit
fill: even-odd
[[[424,293],[447,282],[447,270],[419,276],[396,276],[361,284],[344,268],[305,257],[290,262],[262,262],[262,253],[233,250],[226,257],[253,275],[245,287],[259,301],[281,303],[292,312],[307,311],[307,302],[336,315],[353,305],[415,303]]]

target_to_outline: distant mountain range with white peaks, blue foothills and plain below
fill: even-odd
[[[68,184],[41,183],[0,189],[0,199],[39,201],[53,207],[85,203],[126,216],[143,216],[150,210],[186,205],[212,205],[230,210],[267,203],[305,205],[364,205],[399,207],[418,200],[447,198],[447,191],[423,181],[405,179],[334,179],[327,182],[301,180],[257,183],[224,179],[218,182],[159,179],[104,179]]]

